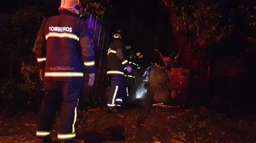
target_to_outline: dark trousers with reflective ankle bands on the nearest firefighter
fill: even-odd
[[[76,137],[75,123],[82,83],[82,78],[76,81],[44,81],[44,96],[36,133],[39,139],[49,137],[60,102],[60,120],[57,128],[58,139],[68,141]]]

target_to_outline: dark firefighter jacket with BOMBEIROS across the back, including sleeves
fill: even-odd
[[[70,11],[45,20],[33,51],[45,80],[70,80],[95,72],[93,42],[86,22]]]

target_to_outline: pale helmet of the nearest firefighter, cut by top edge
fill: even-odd
[[[73,13],[75,13],[78,17],[82,17],[82,4],[79,2],[79,0],[62,0],[59,6],[60,10],[69,10]]]

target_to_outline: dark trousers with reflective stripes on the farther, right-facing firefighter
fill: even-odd
[[[125,94],[124,76],[112,76],[107,108],[122,106]]]

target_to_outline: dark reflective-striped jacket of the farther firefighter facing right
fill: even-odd
[[[107,75],[123,75],[124,68],[130,66],[123,52],[124,44],[122,40],[114,39],[107,51]]]

